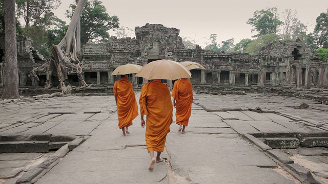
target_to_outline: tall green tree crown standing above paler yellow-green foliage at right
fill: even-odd
[[[281,24],[283,24],[283,22],[279,20],[277,10],[277,8],[269,8],[267,10],[254,12],[254,17],[249,18],[246,22],[247,24],[254,27],[252,32],[258,32],[258,34],[254,35],[253,37],[259,37],[261,35],[278,32],[278,28]]]

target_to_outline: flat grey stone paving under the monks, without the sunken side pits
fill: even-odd
[[[161,155],[168,157],[170,163],[168,166],[163,162],[157,163],[153,172],[147,170],[149,154],[145,148],[145,128],[140,127],[140,116],[129,128],[131,134],[121,136],[113,96],[72,96],[20,104],[9,103],[0,112],[0,119],[6,120],[6,124],[16,123],[16,126],[6,130],[0,126],[0,135],[17,133],[26,126],[22,133],[50,132],[90,136],[37,183],[168,183],[175,177],[182,178],[180,183],[190,183],[188,178],[200,183],[297,183],[294,178],[288,177],[288,173],[277,167],[270,157],[238,135],[280,132],[282,129],[305,133],[324,131],[320,127],[309,128],[301,122],[306,121],[304,118],[327,124],[324,122],[328,118],[325,111],[295,108],[302,102],[321,108],[320,104],[311,100],[263,94],[194,97],[195,104],[192,106],[193,114],[187,133],[177,132],[178,125],[175,123],[171,125],[166,144],[169,155]],[[215,112],[204,111],[202,107]],[[263,111],[282,112],[286,117],[299,119],[291,121],[274,113],[247,110],[255,107],[260,107]],[[64,112],[65,109],[66,112],[74,113],[54,114]],[[219,113],[222,110],[224,113]],[[216,112],[225,117],[218,116]],[[234,119],[227,119],[228,116]],[[175,121],[175,116],[173,119]],[[25,124],[18,123],[23,120]],[[34,126],[33,123],[42,124]],[[315,160],[312,161],[314,163]],[[318,173],[322,173],[321,171],[324,170],[316,170]]]

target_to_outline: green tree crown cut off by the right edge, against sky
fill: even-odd
[[[316,27],[314,35],[318,40],[319,47],[328,48],[328,10],[326,13],[321,13],[316,19]]]

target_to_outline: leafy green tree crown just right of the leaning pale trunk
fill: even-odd
[[[88,1],[81,14],[81,45],[90,40],[106,40],[108,31],[119,28],[117,16],[109,16],[103,2],[98,0]],[[73,16],[76,5],[70,5],[71,10],[66,11],[66,16]]]

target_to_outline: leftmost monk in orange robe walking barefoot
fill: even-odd
[[[132,120],[138,116],[138,104],[128,75],[121,75],[121,79],[114,83],[113,92],[117,105],[118,127],[125,136],[130,133],[128,127],[132,125]]]

